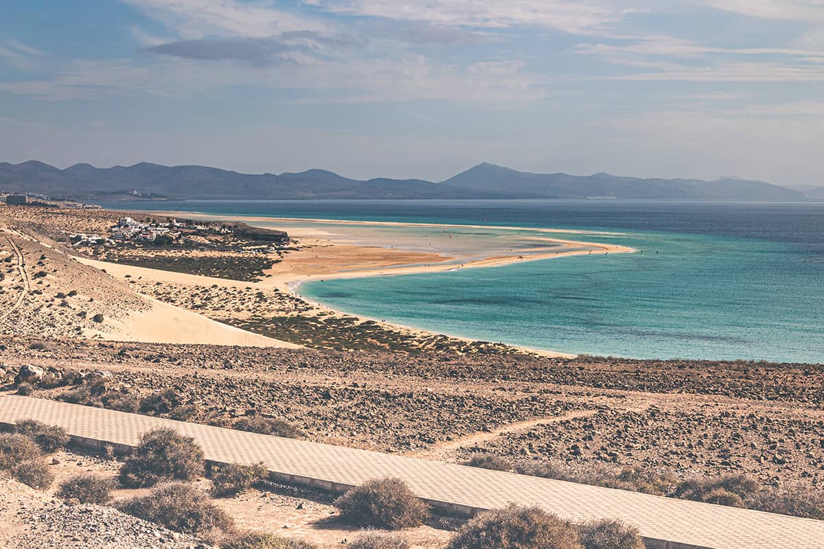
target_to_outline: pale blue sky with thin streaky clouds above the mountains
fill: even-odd
[[[824,0],[4,0],[0,161],[824,184]]]

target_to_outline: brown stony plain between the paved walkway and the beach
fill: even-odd
[[[403,355],[7,342],[2,360],[102,368],[115,390],[173,389],[192,421],[284,418],[307,438],[463,461],[638,466],[678,477],[746,472],[824,483],[819,365]],[[55,398],[67,388],[35,389]]]

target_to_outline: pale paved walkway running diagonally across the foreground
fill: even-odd
[[[822,549],[824,521],[733,509],[630,491],[468,468],[302,440],[281,439],[84,407],[38,398],[0,396],[0,423],[35,419],[62,426],[87,444],[133,447],[139,435],[172,427],[219,463],[263,462],[289,482],[344,490],[376,477],[400,477],[433,504],[454,512],[518,503],[541,505],[564,519],[620,519],[639,528],[648,547],[662,549]]]

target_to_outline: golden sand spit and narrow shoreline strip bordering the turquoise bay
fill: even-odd
[[[129,212],[137,213],[137,212]],[[148,212],[141,212],[148,213]],[[189,212],[151,212],[151,215],[180,216],[181,213],[190,215]],[[564,240],[555,238],[542,238],[530,235],[522,240],[528,241],[531,251],[522,250],[511,253],[501,253],[500,250],[493,250],[491,253],[479,253],[478,250],[460,249],[452,250],[454,254],[433,254],[431,251],[421,249],[422,246],[408,246],[399,249],[388,244],[386,240],[375,238],[375,235],[368,235],[364,240],[363,235],[354,238],[352,234],[347,235],[346,230],[353,227],[393,227],[393,228],[420,228],[434,227],[446,230],[500,230],[513,232],[531,233],[563,233],[565,235],[616,235],[617,233],[598,233],[586,230],[545,230],[534,227],[498,227],[498,226],[475,226],[475,225],[455,225],[455,224],[420,224],[420,223],[400,223],[391,221],[344,221],[344,220],[307,220],[283,217],[255,217],[255,216],[217,216],[213,214],[193,213],[197,219],[204,221],[243,221],[252,226],[267,226],[276,224],[284,230],[297,230],[297,233],[290,232],[293,240],[296,241],[297,250],[290,251],[283,255],[282,261],[274,263],[272,268],[265,272],[265,277],[256,282],[235,281],[226,278],[204,277],[181,272],[162,271],[154,268],[133,267],[119,263],[100,262],[87,258],[79,258],[82,263],[105,269],[115,278],[143,279],[161,282],[163,284],[180,284],[188,286],[217,286],[222,288],[242,288],[254,290],[273,289],[285,291],[305,302],[310,302],[302,295],[299,287],[305,281],[363,278],[363,277],[386,277],[400,276],[405,274],[425,274],[428,272],[450,272],[466,268],[495,268],[503,267],[513,263],[532,262],[550,258],[563,258],[583,254],[610,254],[610,253],[633,253],[635,250],[626,246],[616,244],[602,244],[583,240]],[[288,227],[284,225],[297,225],[298,227]],[[322,230],[318,226],[338,227],[342,234],[331,233],[329,230]],[[327,228],[327,227],[324,227]],[[450,237],[451,238],[451,237]],[[491,242],[491,241],[490,241]],[[354,314],[346,311],[333,309],[327,305],[316,304],[316,300],[311,300],[311,307],[314,309],[314,316],[332,316],[335,318],[356,318],[359,322],[376,323],[383,328],[389,328],[411,337],[428,338],[433,336],[446,336],[461,342],[475,342],[471,337],[456,336],[449,333],[436,332],[425,328],[414,328],[398,323],[384,322],[380,319],[372,319],[363,314]],[[529,352],[541,356],[552,357],[573,357],[569,353],[562,353],[551,350],[536,349],[521,345],[509,345],[519,351]]]

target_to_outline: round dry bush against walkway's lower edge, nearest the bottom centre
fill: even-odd
[[[335,507],[342,519],[364,528],[411,528],[429,515],[428,506],[399,478],[365,482],[341,495]]]

